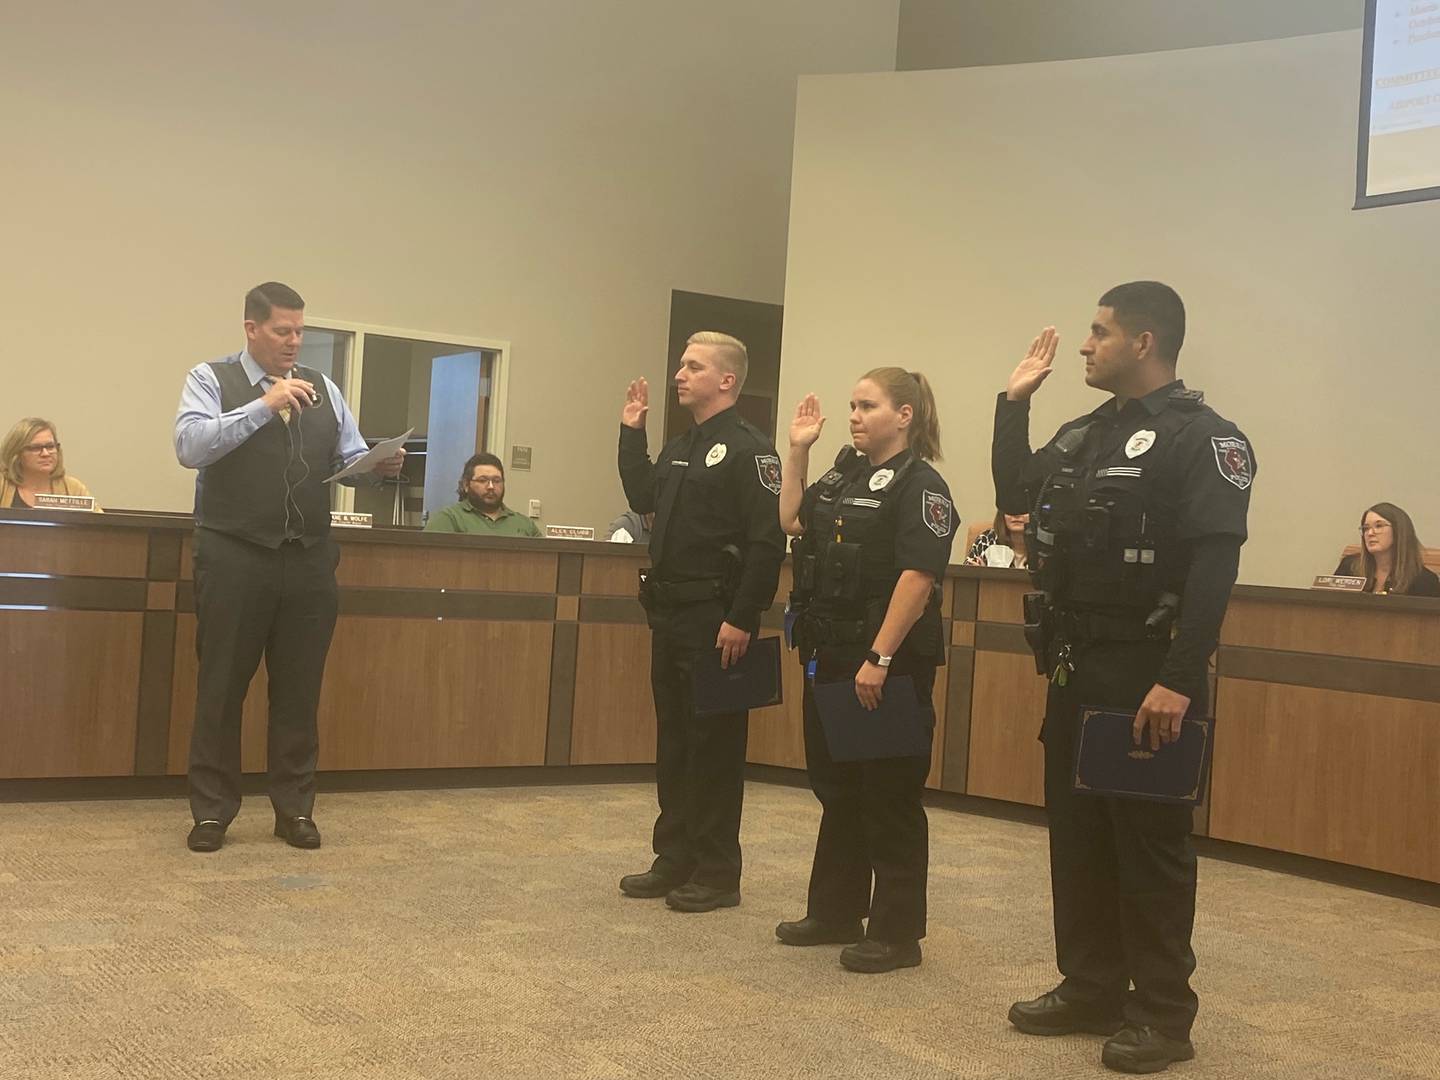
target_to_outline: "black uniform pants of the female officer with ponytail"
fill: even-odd
[[[858,670],[858,662],[821,662],[816,678],[854,680]],[[935,668],[891,671],[887,681],[901,674],[914,680],[933,732]],[[811,868],[809,917],[848,923],[868,916],[865,936],[891,945],[924,937],[930,827],[920,798],[930,772],[929,755],[870,762],[831,759],[815,693],[805,680],[805,768],[824,808]]]

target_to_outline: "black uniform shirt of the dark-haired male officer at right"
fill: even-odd
[[[1037,454],[1030,452],[1030,402],[999,395],[991,465],[996,505],[1031,513],[1045,478],[1061,459],[1084,464],[1087,494],[1140,498],[1155,531],[1168,534],[1162,585],[1184,590],[1179,631],[1161,674],[1162,685],[1195,697],[1220,636],[1257,465],[1246,435],[1204,403],[1204,395],[1175,380],[1145,397],[1099,409],[1063,425]],[[1079,449],[1061,455],[1070,436]],[[1200,562],[1197,562],[1200,557]],[[1064,603],[1064,596],[1057,598]],[[1087,602],[1096,598],[1084,598]]]

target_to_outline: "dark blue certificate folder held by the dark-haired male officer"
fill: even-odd
[[[1179,739],[1162,743],[1159,750],[1151,750],[1149,727],[1136,746],[1130,734],[1133,727],[1135,713],[1080,710],[1074,791],[1200,805],[1210,778],[1214,719],[1182,720]]]

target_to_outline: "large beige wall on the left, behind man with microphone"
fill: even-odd
[[[312,317],[508,340],[526,494],[602,526],[670,291],[780,300],[796,76],[890,69],[897,13],[32,6],[0,35],[4,412],[53,418],[107,505],[189,508],[184,372],[278,278]]]

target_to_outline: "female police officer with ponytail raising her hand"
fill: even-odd
[[[939,585],[955,514],[930,465],[940,456],[940,425],[923,374],[877,367],[863,376],[850,403],[854,445],[805,487],[824,423],[809,395],[791,423],[780,488],[780,527],[798,537],[793,641],[812,672],[805,763],[824,814],[806,914],[775,935],[786,945],[845,943],[845,968],[887,972],[920,963],[929,870],[920,796],[930,755],[834,760],[812,680],[854,681],[855,697],[874,710],[887,678],[909,675],[933,732],[935,670],[945,662]]]

